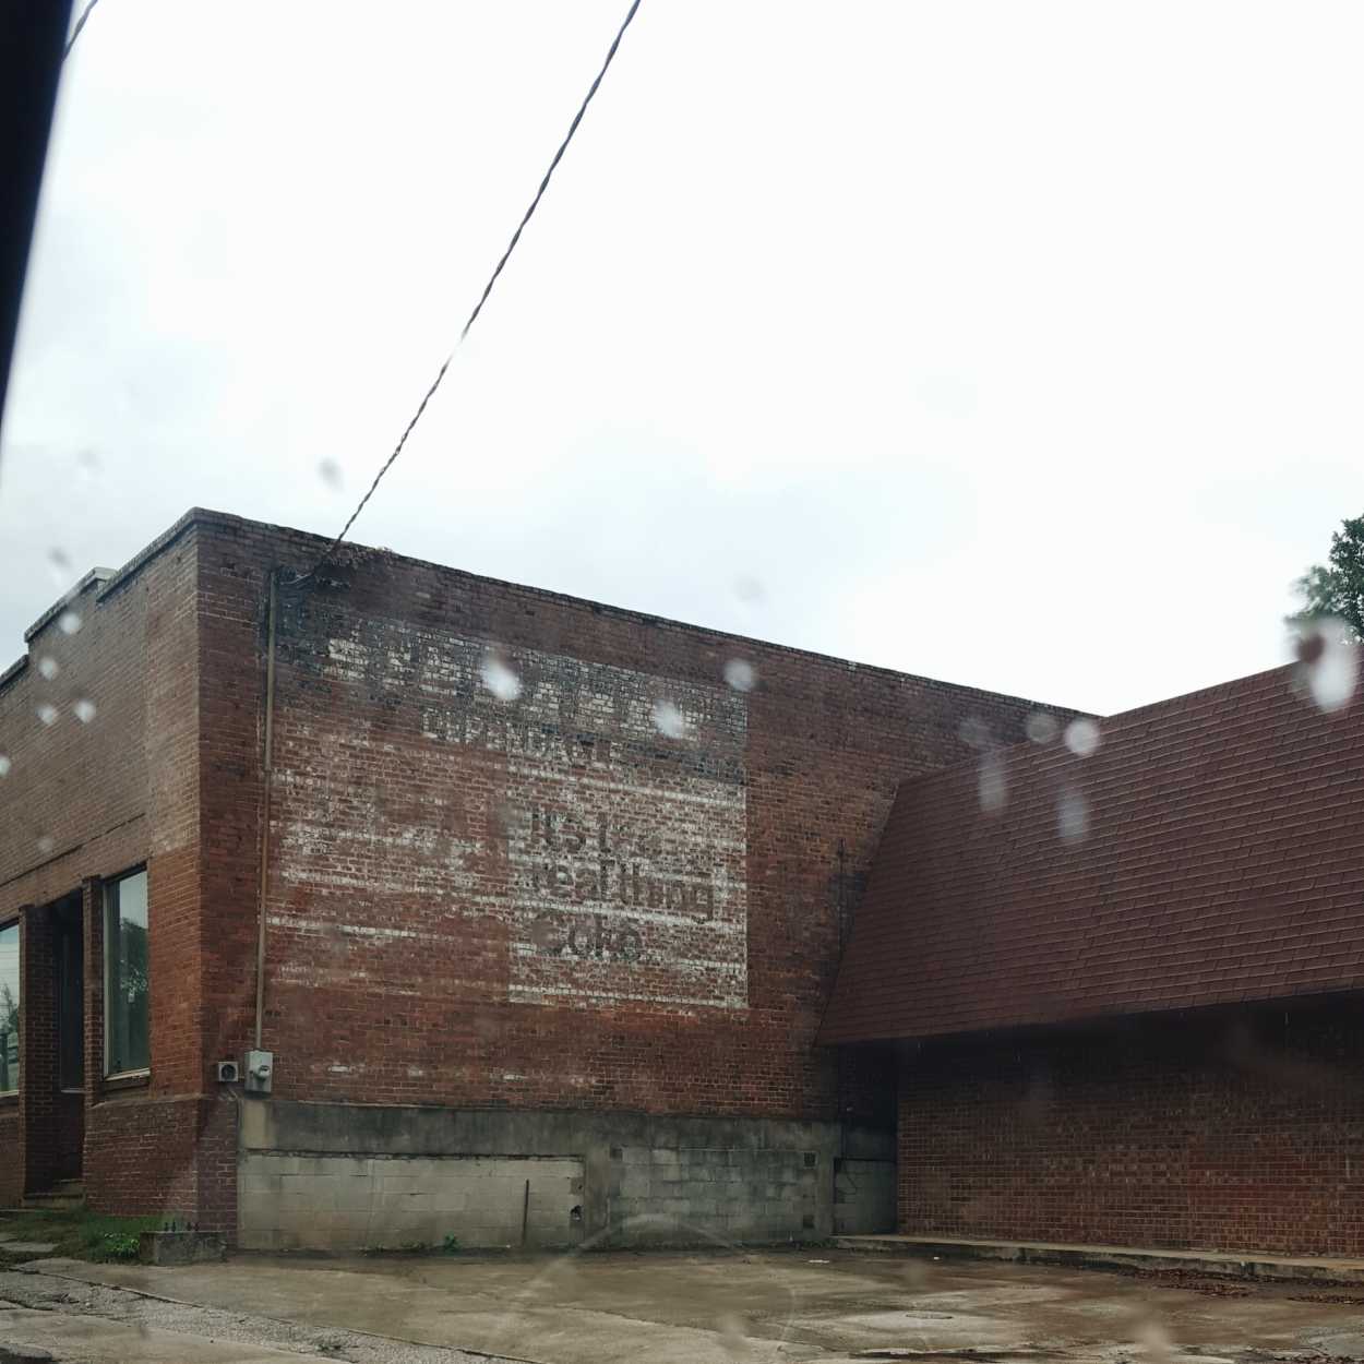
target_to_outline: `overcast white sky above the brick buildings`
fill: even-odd
[[[0,666],[192,505],[340,529],[623,10],[102,0]],[[1364,512],[1361,50],[1356,3],[644,0],[355,539],[1101,712],[1282,662]]]

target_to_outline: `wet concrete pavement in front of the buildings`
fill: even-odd
[[[847,1251],[239,1256],[184,1267],[49,1260],[41,1269],[68,1286],[135,1289],[172,1305],[390,1338],[396,1348],[413,1342],[413,1350],[420,1344],[535,1364],[1364,1360],[1359,1289]],[[0,1285],[0,1297],[14,1293]],[[310,1338],[262,1344],[352,1357],[340,1339],[327,1350]]]

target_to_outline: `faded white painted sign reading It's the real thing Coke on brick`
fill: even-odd
[[[372,622],[329,640],[323,678],[391,720],[340,746],[296,735],[327,757],[278,777],[288,878],[499,921],[510,1000],[746,1007],[745,697],[537,651],[490,675],[490,659],[484,641]],[[368,822],[344,809],[366,792]]]

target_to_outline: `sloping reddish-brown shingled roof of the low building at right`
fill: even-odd
[[[997,812],[975,762],[900,790],[825,1041],[1364,986],[1357,700],[1275,668],[996,760]]]

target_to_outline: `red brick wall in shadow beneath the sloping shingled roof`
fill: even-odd
[[[1364,1254],[1359,1004],[922,1043],[899,1229]]]

